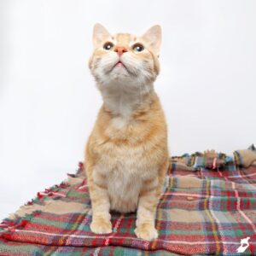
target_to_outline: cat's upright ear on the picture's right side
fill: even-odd
[[[152,26],[143,34],[143,40],[154,51],[154,54],[160,55],[160,45],[162,41],[162,32],[159,25]]]

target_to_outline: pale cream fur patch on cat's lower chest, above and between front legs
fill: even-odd
[[[94,180],[108,190],[110,207],[118,212],[134,212],[137,210],[139,195],[143,183],[155,177],[157,184],[157,168],[149,166],[142,160],[141,149],[127,150],[125,147],[114,150],[113,156],[104,154],[108,145],[102,149],[101,160],[96,165]]]

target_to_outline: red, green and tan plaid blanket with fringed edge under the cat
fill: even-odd
[[[245,168],[237,155],[218,156],[221,165],[209,168],[214,157],[207,152],[201,156],[206,165],[192,171],[188,155],[172,158],[156,213],[156,240],[135,236],[135,213],[113,212],[111,234],[90,232],[90,196],[79,164],[76,174],[3,220],[0,255],[241,255],[238,248],[255,255],[256,162]]]

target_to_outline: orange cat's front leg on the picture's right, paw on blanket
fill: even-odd
[[[157,230],[154,228],[155,212],[159,201],[157,194],[156,189],[151,189],[140,195],[137,208],[137,228],[134,230],[138,238],[152,240],[158,237]]]

